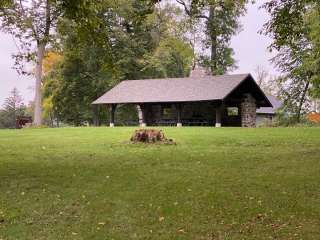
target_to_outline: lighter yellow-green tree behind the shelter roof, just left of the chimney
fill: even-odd
[[[185,77],[190,72],[194,50],[186,32],[188,19],[173,5],[160,4],[149,18],[154,25],[156,47],[143,57],[143,72],[148,78]]]

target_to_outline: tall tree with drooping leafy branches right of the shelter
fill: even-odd
[[[281,93],[298,122],[310,90],[316,86],[313,79],[317,73],[312,63],[317,59],[313,57],[315,49],[306,18],[317,4],[315,0],[271,0],[263,5],[271,15],[263,32],[273,38],[269,48],[277,55],[272,61],[283,73]]]

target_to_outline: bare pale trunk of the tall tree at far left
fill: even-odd
[[[34,119],[33,123],[36,126],[42,124],[42,94],[41,94],[41,80],[42,80],[42,62],[44,58],[45,44],[38,43],[37,49],[37,62],[36,62],[36,87],[35,87],[35,99],[34,99]]]

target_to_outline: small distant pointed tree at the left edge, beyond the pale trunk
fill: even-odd
[[[0,128],[15,128],[18,116],[24,116],[26,107],[17,88],[12,89],[5,99],[3,110],[0,111]]]

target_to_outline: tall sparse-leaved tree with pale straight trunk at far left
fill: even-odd
[[[55,26],[61,15],[62,2],[57,0],[12,0],[0,6],[0,29],[18,41],[19,53],[15,55],[20,73],[27,73],[23,63],[35,63],[34,124],[41,125],[42,62],[46,47],[52,43]]]

